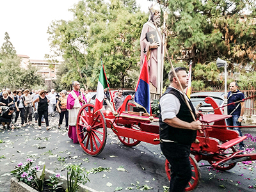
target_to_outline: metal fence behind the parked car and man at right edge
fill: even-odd
[[[200,89],[200,88],[191,88],[191,93],[196,93],[196,92],[224,92],[223,88],[221,87],[212,87],[211,90],[205,90],[205,89]],[[244,93],[244,97],[252,97],[255,95],[256,90],[252,88],[252,90],[241,90],[241,92]],[[251,99],[245,100],[245,111],[244,115],[247,116],[252,116],[256,115],[256,99],[255,97]]]

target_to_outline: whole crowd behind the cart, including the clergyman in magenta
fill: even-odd
[[[60,93],[46,90],[14,90],[3,89],[0,93],[0,123],[4,129],[15,129],[19,125],[24,127],[29,124],[38,124],[36,129],[42,129],[45,123],[47,131],[51,129],[49,116],[59,113],[58,129],[61,129],[65,118],[65,128],[68,137],[74,143],[78,143],[76,134],[76,122],[79,109],[84,104],[91,101],[91,94],[87,89],[80,88],[77,81],[72,83],[73,90],[68,93],[62,90]],[[118,93],[113,99],[117,110],[124,102],[123,90],[118,89]],[[106,102],[108,100],[108,102]],[[110,94],[108,88],[104,90],[103,109],[108,109]],[[18,124],[17,122],[20,122]]]

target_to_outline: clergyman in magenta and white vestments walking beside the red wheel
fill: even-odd
[[[76,120],[79,109],[86,102],[85,97],[79,93],[80,84],[78,81],[72,82],[73,90],[68,94],[67,109],[68,109],[68,137],[73,140],[73,143],[78,143],[76,135]]]

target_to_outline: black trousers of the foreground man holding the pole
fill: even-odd
[[[173,142],[160,143],[161,150],[172,166],[170,192],[184,192],[191,179],[191,164],[189,161],[191,145]]]

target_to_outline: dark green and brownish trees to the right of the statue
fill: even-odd
[[[169,12],[168,52],[175,64],[193,62],[195,81],[222,83],[216,76],[221,70],[212,71],[218,57],[228,61],[230,74],[248,65],[255,70],[255,1],[158,1]]]

